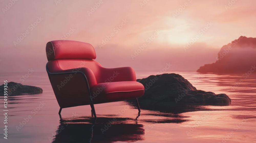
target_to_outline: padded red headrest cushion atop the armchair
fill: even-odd
[[[96,53],[89,43],[54,40],[46,44],[46,55],[48,61],[55,59],[95,59]]]

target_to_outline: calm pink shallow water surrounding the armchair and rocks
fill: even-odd
[[[155,74],[136,73],[137,78]],[[0,142],[256,142],[255,75],[244,79],[242,75],[170,73],[182,75],[197,89],[226,93],[232,103],[193,106],[178,113],[142,109],[140,114],[126,101],[96,104],[95,122],[89,105],[65,108],[58,115],[59,105],[46,72],[34,72],[24,82],[20,77],[26,73],[2,73],[1,85],[7,79],[41,87],[43,93],[8,98],[8,140],[2,134]],[[1,97],[2,111],[3,102]],[[27,120],[29,115],[32,118]],[[3,133],[3,114],[1,120]]]

